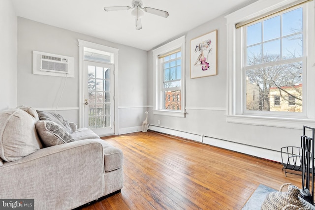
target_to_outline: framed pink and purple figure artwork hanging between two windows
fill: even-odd
[[[217,30],[190,40],[190,79],[217,75]]]

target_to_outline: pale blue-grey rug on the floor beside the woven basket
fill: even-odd
[[[264,202],[266,196],[278,190],[270,188],[266,185],[259,184],[256,190],[252,193],[252,196],[246,204],[244,205],[242,210],[260,210],[261,204]]]

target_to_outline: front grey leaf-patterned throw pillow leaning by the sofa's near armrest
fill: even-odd
[[[39,120],[36,122],[35,126],[41,141],[46,147],[74,141],[72,136],[56,122]]]

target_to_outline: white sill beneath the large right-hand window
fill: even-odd
[[[226,121],[231,123],[261,125],[270,127],[303,129],[303,125],[314,127],[314,119],[298,119],[298,118],[276,118],[276,117],[260,117],[260,116],[244,116],[244,115],[228,115]]]

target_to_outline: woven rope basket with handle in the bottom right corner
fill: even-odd
[[[284,186],[288,185],[288,191],[282,192]],[[300,190],[297,186],[285,183],[279,192],[267,195],[261,205],[261,210],[315,210],[315,207],[303,198],[299,197]]]

